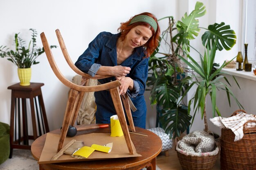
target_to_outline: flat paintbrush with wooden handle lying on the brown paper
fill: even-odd
[[[72,139],[69,143],[67,143],[57,154],[55,154],[51,161],[55,161],[63,154],[69,154],[72,155],[75,150],[78,148],[83,147],[83,141],[76,141],[75,139]]]

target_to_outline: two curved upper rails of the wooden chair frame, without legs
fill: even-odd
[[[64,41],[63,41],[63,39],[61,37],[61,34],[60,34],[58,29],[56,30],[56,34],[57,34],[57,37],[59,39],[63,55],[64,55],[68,65],[70,65],[70,67],[77,74],[80,74],[81,76],[84,76],[86,78],[94,78],[94,79],[101,79],[101,78],[109,77],[109,76],[99,76],[99,75],[96,75],[95,77],[92,77],[88,74],[85,74],[85,73],[81,72],[81,70],[79,70],[74,65],[74,63],[72,63],[72,60],[70,59],[70,56],[67,53],[67,49],[65,47]],[[53,70],[54,74],[67,87],[70,87],[71,89],[75,89],[75,90],[80,91],[80,92],[97,92],[97,91],[102,91],[102,90],[106,90],[106,89],[112,89],[112,88],[115,88],[115,87],[119,87],[121,85],[121,83],[119,81],[112,81],[110,83],[105,83],[105,84],[96,85],[96,86],[83,86],[83,85],[76,85],[76,84],[72,83],[71,81],[67,80],[67,78],[65,78],[65,76],[63,76],[63,74],[61,74],[60,70],[58,69],[44,32],[42,32],[40,34],[40,37],[41,37],[41,40],[42,40],[42,43],[43,43],[43,47],[45,49],[45,54],[47,56],[47,59],[49,61],[50,66],[52,67],[52,70]]]

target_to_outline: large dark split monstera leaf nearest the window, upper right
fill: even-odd
[[[208,26],[208,31],[202,35],[202,43],[211,49],[211,45],[216,44],[218,50],[225,48],[230,50],[236,44],[235,31],[230,29],[224,22]]]

